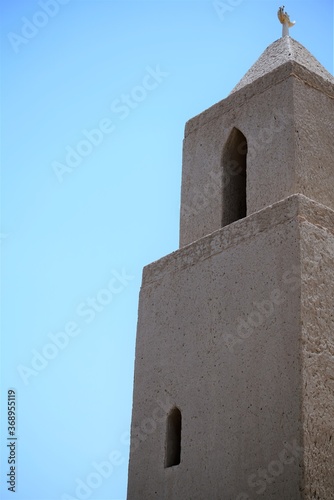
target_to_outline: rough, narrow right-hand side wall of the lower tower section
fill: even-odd
[[[334,497],[334,214],[301,225],[305,499]]]

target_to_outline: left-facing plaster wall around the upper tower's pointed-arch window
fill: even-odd
[[[248,143],[247,213],[292,194],[291,79],[285,79],[278,87],[269,85],[263,93],[255,92],[246,100],[241,92],[236,93],[218,108],[212,119],[206,121],[203,116],[201,125],[184,140],[180,246],[222,227],[223,170],[228,168],[222,164],[222,156],[234,127]]]

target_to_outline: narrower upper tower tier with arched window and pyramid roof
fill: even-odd
[[[334,209],[334,78],[290,36],[186,124],[180,246],[295,193]]]

